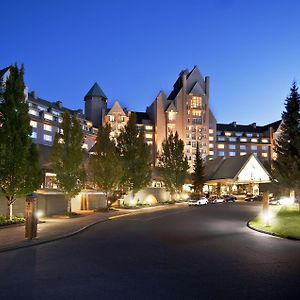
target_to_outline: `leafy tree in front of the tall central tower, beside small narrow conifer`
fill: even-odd
[[[189,168],[187,158],[184,155],[184,143],[178,137],[178,133],[171,133],[162,143],[162,153],[159,157],[159,166],[167,190],[173,196],[182,190]]]

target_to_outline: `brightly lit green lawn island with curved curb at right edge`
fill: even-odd
[[[250,227],[285,238],[300,239],[300,211],[298,205],[283,207],[270,218],[266,226],[262,216],[257,216],[249,222]]]

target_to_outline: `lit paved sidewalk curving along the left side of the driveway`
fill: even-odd
[[[181,205],[181,204],[180,204]],[[25,239],[25,227],[0,227],[0,253],[19,248],[31,247],[75,235],[86,228],[110,218],[119,218],[152,211],[178,208],[179,205],[159,205],[140,209],[118,209],[111,212],[79,212],[75,218],[48,217],[41,218],[44,223],[38,224],[37,238]]]

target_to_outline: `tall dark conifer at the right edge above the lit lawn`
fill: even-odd
[[[300,189],[300,95],[294,82],[285,100],[281,134],[276,142],[274,174],[279,184],[292,191]],[[300,204],[299,204],[300,207]]]

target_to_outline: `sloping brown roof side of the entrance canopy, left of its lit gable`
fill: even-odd
[[[234,179],[253,154],[220,157],[205,162],[205,180]]]

